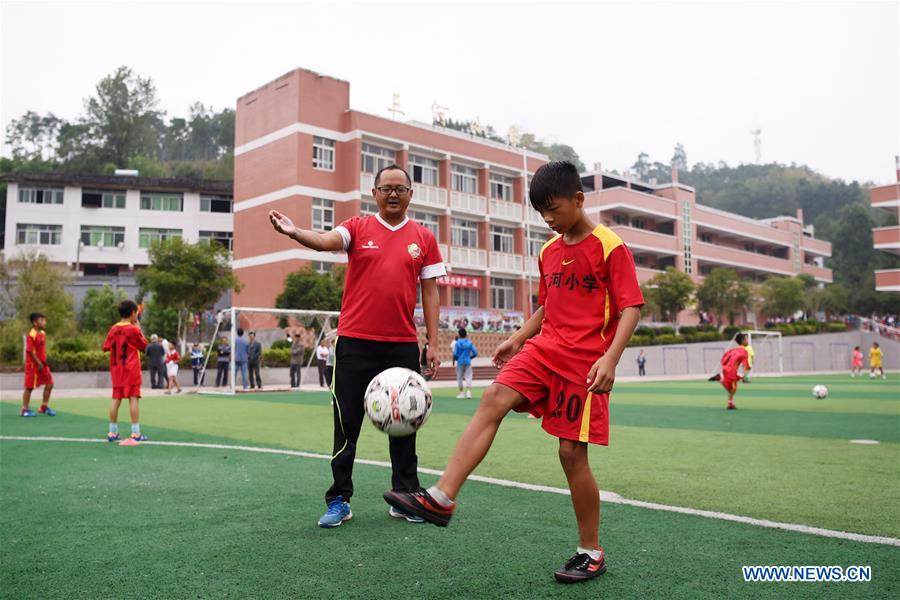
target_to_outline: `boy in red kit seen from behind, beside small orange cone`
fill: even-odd
[[[147,340],[137,325],[138,307],[132,300],[122,300],[119,304],[119,316],[122,319],[110,327],[103,342],[103,351],[109,352],[109,375],[113,384],[113,400],[109,407],[109,433],[106,439],[110,442],[119,440],[119,405],[123,398],[128,398],[131,408],[131,439],[142,442],[140,411],[138,401],[141,398],[141,356],[140,351],[147,347]]]

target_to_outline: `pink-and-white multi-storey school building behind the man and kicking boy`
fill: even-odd
[[[350,108],[350,84],[297,69],[238,100],[235,131],[234,269],[239,306],[273,306],[285,276],[311,264],[328,271],[340,253],[305,250],[274,234],[270,209],[304,228],[328,230],[376,211],[374,174],[396,163],[413,179],[410,216],[434,231],[451,276],[441,306],[531,314],[536,256],[550,230],[525,200],[541,154],[427,123]],[[831,281],[831,245],[796,217],[748,219],[695,201],[676,181],[585,173],[595,221],[631,247],[641,281],[674,266],[700,281],[715,267],[762,280],[809,273]]]

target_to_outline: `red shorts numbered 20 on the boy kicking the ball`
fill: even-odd
[[[543,417],[541,426],[550,435],[609,445],[609,394],[588,392],[586,385],[564,379],[530,346],[515,355],[494,381],[525,396],[526,402],[515,410]]]

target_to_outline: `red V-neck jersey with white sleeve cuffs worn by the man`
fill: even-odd
[[[378,215],[352,217],[335,230],[348,259],[338,335],[417,341],[418,281],[447,274],[434,234],[408,218],[391,226]]]

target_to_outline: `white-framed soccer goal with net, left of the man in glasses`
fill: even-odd
[[[287,391],[293,387],[294,373],[291,372],[289,358],[288,362],[285,362],[284,359],[290,355],[289,344],[292,342],[288,342],[288,340],[298,337],[304,349],[312,350],[304,352],[304,355],[308,354],[308,358],[303,361],[297,374],[298,382],[314,381],[315,370],[310,367],[316,360],[315,349],[322,339],[334,338],[339,315],[340,313],[337,311],[248,306],[233,306],[220,311],[216,315],[215,330],[204,351],[197,392],[232,395],[243,391],[243,369],[236,368],[238,365],[234,351],[238,329],[243,330],[243,337],[248,341],[250,332],[253,332],[256,341],[262,346],[263,368],[260,369],[262,387],[258,390],[254,389],[254,391]],[[227,345],[230,350],[227,363],[219,360],[218,351],[222,343]],[[286,355],[280,356],[275,364],[272,364],[274,361],[266,358],[266,351],[272,349],[273,345],[283,347],[287,351]],[[248,372],[247,375],[249,377],[251,373]]]

